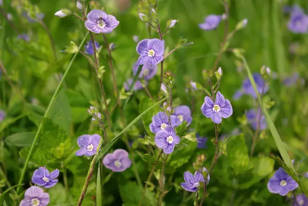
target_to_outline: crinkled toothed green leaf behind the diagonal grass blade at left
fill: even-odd
[[[54,151],[61,146],[61,143],[65,143],[67,139],[67,134],[63,128],[54,124],[52,120],[48,118],[44,118],[43,121],[43,128],[39,136],[40,139],[30,159],[31,162],[40,165],[46,165],[59,159],[57,155],[54,155]],[[30,146],[23,148],[20,151],[20,156],[26,159],[29,151]]]

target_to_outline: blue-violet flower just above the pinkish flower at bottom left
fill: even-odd
[[[57,176],[59,176],[59,170],[54,170],[49,174],[49,171],[45,166],[38,167],[33,173],[32,182],[38,186],[44,186],[44,188],[52,188],[57,183]]]

